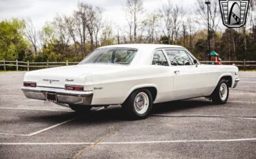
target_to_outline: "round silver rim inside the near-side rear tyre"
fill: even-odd
[[[134,100],[134,108],[138,114],[146,113],[149,108],[149,97],[144,92],[138,93]]]

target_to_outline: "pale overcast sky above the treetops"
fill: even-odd
[[[82,0],[80,0],[82,1]],[[126,0],[84,0],[93,6],[104,8],[104,19],[119,27],[126,24],[125,14],[122,11]],[[143,0],[145,10],[157,10],[166,0]],[[175,3],[178,1],[173,0]],[[0,20],[11,18],[29,18],[37,30],[44,26],[46,21],[53,20],[57,14],[72,15],[77,8],[77,0],[0,0]],[[179,0],[187,10],[193,10],[196,0]]]

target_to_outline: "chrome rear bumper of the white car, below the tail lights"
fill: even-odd
[[[68,91],[62,88],[22,87],[24,95],[30,99],[46,100],[46,93],[56,93],[57,103],[90,105],[93,91]]]

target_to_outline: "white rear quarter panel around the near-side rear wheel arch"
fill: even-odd
[[[93,105],[122,104],[137,88],[155,87],[154,102],[165,102],[172,97],[173,75],[167,66],[127,66],[122,71],[92,75]]]

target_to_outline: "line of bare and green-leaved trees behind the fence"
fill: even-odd
[[[250,1],[246,26],[223,30],[219,1],[210,0],[210,42],[223,60],[256,60],[256,2]],[[208,54],[208,17],[204,0],[194,12],[167,0],[154,12],[143,0],[122,6],[127,24],[106,21],[104,8],[79,2],[73,15],[56,15],[41,30],[30,19],[0,22],[0,60],[78,62],[95,48],[112,44],[174,44],[188,48],[200,60]],[[222,28],[221,28],[222,27]]]

